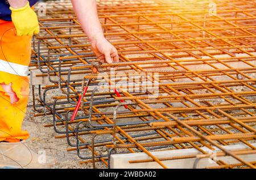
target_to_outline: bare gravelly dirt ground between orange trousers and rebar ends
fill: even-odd
[[[29,105],[32,104],[30,96]],[[34,117],[33,108],[27,109],[24,119],[23,128],[30,132],[30,138],[27,140],[28,146],[36,153],[45,151],[46,155],[56,157],[57,164],[55,168],[92,168],[92,164],[82,164],[81,159],[77,156],[76,151],[67,151],[66,139],[55,139],[57,133],[53,127],[44,127],[47,119],[45,117]]]

